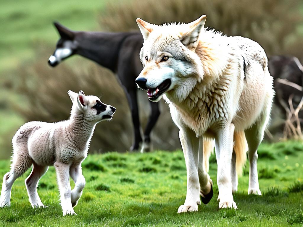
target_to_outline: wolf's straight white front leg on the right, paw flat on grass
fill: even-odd
[[[231,183],[231,156],[235,126],[230,124],[218,132],[215,140],[215,151],[218,163],[217,183],[219,188],[219,209],[235,208]]]

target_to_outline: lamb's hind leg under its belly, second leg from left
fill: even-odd
[[[25,179],[25,185],[29,197],[29,202],[32,207],[47,207],[43,205],[41,199],[37,192],[37,186],[39,179],[46,173],[48,166],[38,166],[36,163],[33,163],[33,169],[28,178]]]

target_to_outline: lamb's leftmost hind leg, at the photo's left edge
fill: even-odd
[[[22,143],[13,144],[14,154],[12,158],[11,171],[3,177],[0,196],[0,207],[11,205],[11,189],[15,180],[21,176],[32,165],[32,158],[28,154],[27,146]]]

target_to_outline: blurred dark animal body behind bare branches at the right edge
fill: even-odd
[[[268,68],[271,76],[274,77],[276,92],[274,102],[286,115],[279,99],[283,100],[289,108],[288,99],[293,95],[294,108],[298,106],[303,96],[303,66],[298,58],[293,56],[272,56],[269,58]],[[299,118],[303,118],[303,111],[299,112]]]

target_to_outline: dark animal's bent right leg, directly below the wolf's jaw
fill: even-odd
[[[158,117],[160,115],[158,102],[155,103],[150,101],[150,105],[151,105],[151,115],[149,116],[148,123],[145,128],[144,141],[143,141],[141,153],[151,151],[150,133],[151,130],[154,128],[155,124],[157,123]]]

